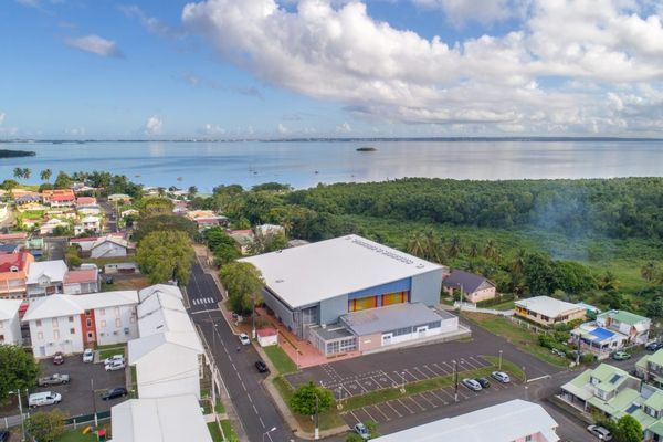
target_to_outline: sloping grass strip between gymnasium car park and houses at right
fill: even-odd
[[[566,358],[552,355],[549,349],[538,345],[538,335],[527,328],[512,323],[502,316],[485,315],[481,313],[463,312],[463,316],[474,324],[506,338],[519,349],[557,367],[568,367]]]

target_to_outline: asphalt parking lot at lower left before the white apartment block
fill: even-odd
[[[62,402],[55,406],[40,407],[40,411],[50,411],[54,408],[64,411],[69,415],[90,414],[94,412],[93,404],[93,386],[96,410],[107,411],[110,407],[126,400],[127,398],[118,398],[109,401],[101,399],[104,390],[113,387],[125,387],[125,371],[106,371],[103,364],[84,364],[82,355],[72,355],[64,358],[64,364],[60,366],[53,365],[51,358],[40,361],[42,370],[41,376],[50,376],[53,373],[70,375],[71,381],[67,385],[50,386],[38,388],[35,387],[30,392],[38,391],[55,391],[62,394]]]

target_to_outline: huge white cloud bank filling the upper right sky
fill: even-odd
[[[429,3],[470,14],[460,0]],[[207,0],[187,4],[182,21],[261,80],[371,120],[471,134],[657,130],[644,110],[663,107],[661,18],[632,0],[530,3],[518,2],[527,13],[511,32],[453,44],[377,21],[358,1],[301,0],[290,11],[274,0]],[[643,85],[655,94],[606,106],[608,93],[646,97]]]

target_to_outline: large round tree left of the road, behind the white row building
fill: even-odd
[[[186,285],[194,255],[191,239],[181,231],[151,232],[136,249],[136,262],[150,284],[167,283],[175,276]]]

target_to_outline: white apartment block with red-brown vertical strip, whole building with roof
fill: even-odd
[[[30,326],[36,358],[75,354],[96,345],[126,343],[138,336],[136,291],[57,295],[34,299],[23,322]]]

